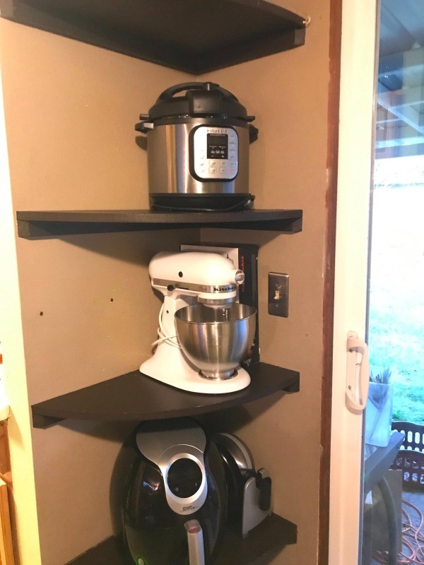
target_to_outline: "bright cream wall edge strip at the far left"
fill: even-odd
[[[37,528],[33,454],[28,411],[28,389],[25,378],[23,328],[20,316],[16,234],[13,219],[11,182],[8,167],[3,90],[0,92],[0,339],[4,352],[3,376],[7,382],[7,402],[11,405],[8,437],[15,484],[9,504],[13,523],[29,523],[25,528],[25,547],[33,552],[35,565],[40,563],[40,540]],[[10,492],[9,492],[10,494]],[[15,539],[16,530],[13,532]],[[24,533],[19,530],[19,540]],[[23,545],[23,544],[21,544]],[[29,557],[28,552],[28,557]]]

